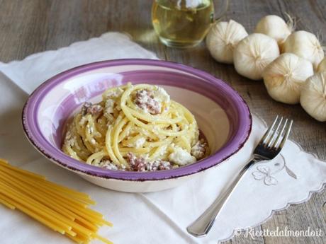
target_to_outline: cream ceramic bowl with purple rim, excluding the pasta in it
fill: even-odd
[[[127,82],[164,87],[171,98],[193,112],[208,139],[211,156],[173,170],[126,172],[81,163],[61,151],[65,122],[85,101]],[[183,64],[152,59],[118,59],[78,66],[45,81],[23,108],[23,129],[50,161],[96,185],[123,192],[154,192],[176,187],[237,153],[252,129],[249,108],[230,86]]]

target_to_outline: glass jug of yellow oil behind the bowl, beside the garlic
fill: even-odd
[[[194,47],[208,33],[210,24],[227,11],[228,0],[154,0],[152,24],[168,47]],[[215,14],[214,14],[215,12]]]

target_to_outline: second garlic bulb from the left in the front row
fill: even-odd
[[[265,67],[279,57],[276,40],[254,33],[241,40],[233,52],[237,73],[252,80],[262,79]]]

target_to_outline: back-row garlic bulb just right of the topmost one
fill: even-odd
[[[317,37],[304,30],[296,31],[288,36],[284,42],[284,52],[291,52],[308,59],[314,69],[317,69],[318,64],[324,58],[324,51]]]

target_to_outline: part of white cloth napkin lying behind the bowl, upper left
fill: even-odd
[[[128,58],[157,59],[155,54],[132,42],[128,35],[106,33],[59,50],[32,54],[23,61],[0,62],[0,71],[23,91],[32,93],[40,83],[67,69],[107,59]]]

